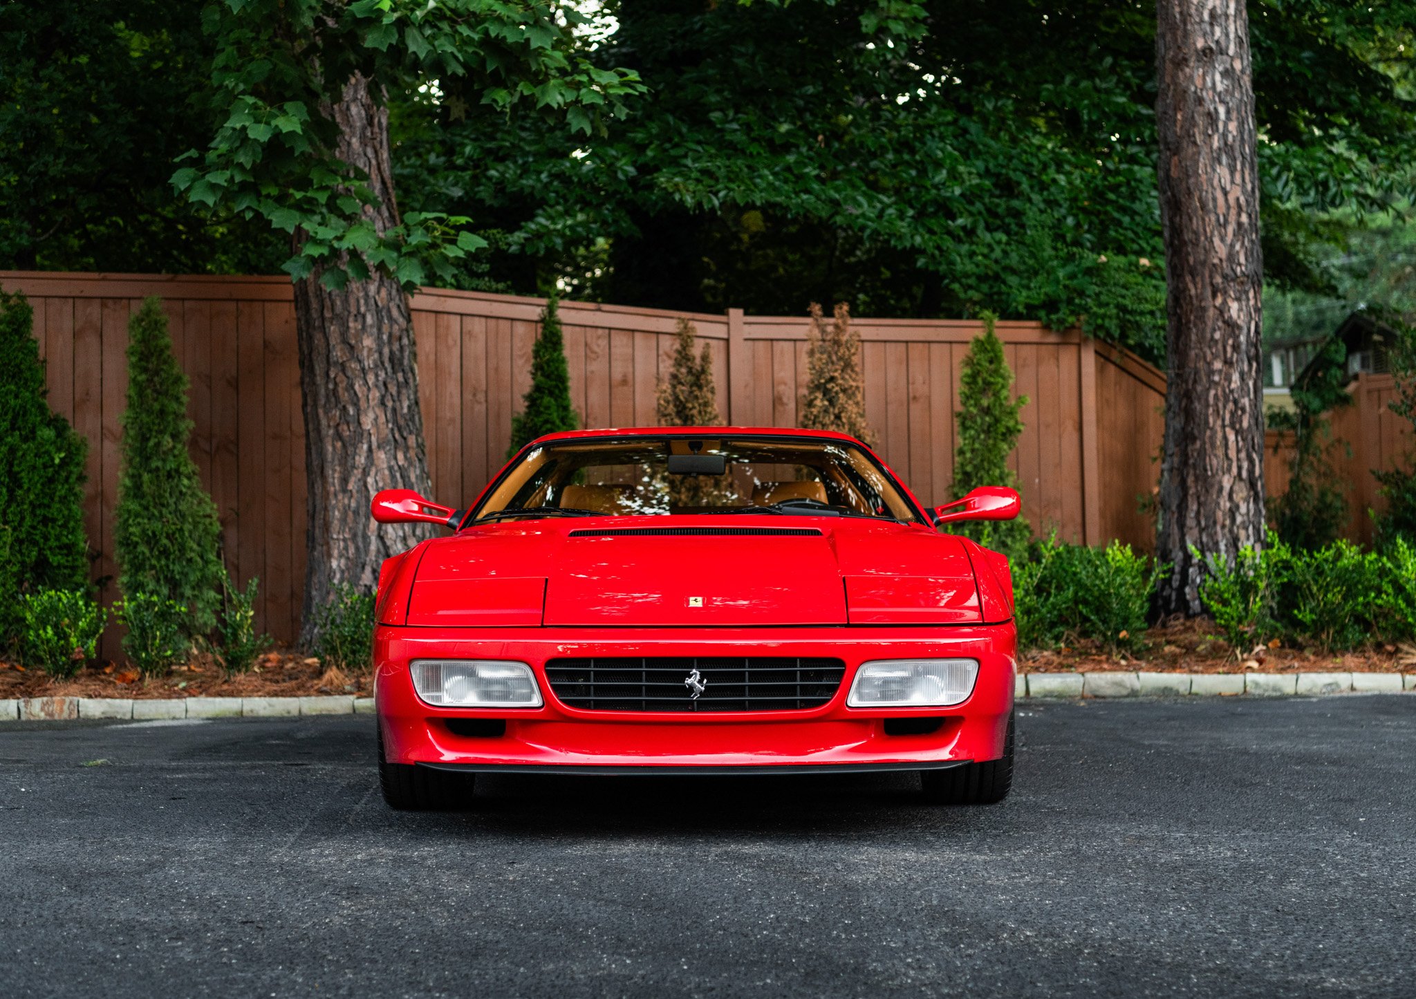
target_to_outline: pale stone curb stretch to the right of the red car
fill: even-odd
[[[1416,674],[1018,674],[1014,698],[1311,698],[1416,692]]]

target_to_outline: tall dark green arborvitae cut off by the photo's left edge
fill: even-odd
[[[45,402],[33,323],[24,296],[0,291],[0,528],[7,541],[0,596],[88,583],[86,441]],[[0,645],[18,631],[18,606],[0,600]]]

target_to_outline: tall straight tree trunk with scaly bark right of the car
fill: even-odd
[[[1260,545],[1259,180],[1243,0],[1157,0],[1160,207],[1168,284],[1157,555],[1167,613],[1201,613],[1201,560]]]

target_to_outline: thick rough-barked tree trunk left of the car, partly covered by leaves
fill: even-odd
[[[355,75],[330,113],[340,126],[338,157],[368,174],[379,201],[365,212],[378,232],[396,226],[387,108],[374,103],[368,81]],[[374,524],[374,494],[429,491],[408,299],[384,275],[336,291],[320,284],[321,273],[316,267],[295,286],[309,491],[304,647],[314,641],[317,611],[334,587],[372,591],[379,563],[426,533]]]

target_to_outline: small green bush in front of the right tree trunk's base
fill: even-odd
[[[1269,532],[1264,548],[1246,545],[1233,559],[1201,555],[1205,579],[1199,583],[1199,601],[1223,633],[1235,657],[1279,633],[1276,617],[1279,587],[1289,562],[1289,548]]]

